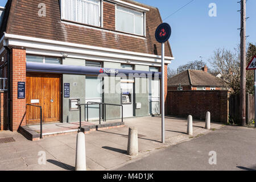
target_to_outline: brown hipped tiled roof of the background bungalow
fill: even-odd
[[[224,82],[210,73],[188,69],[168,80],[168,86],[224,86]]]

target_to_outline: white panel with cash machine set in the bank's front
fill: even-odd
[[[121,79],[121,104],[123,105],[123,117],[133,117],[134,110],[134,79]]]

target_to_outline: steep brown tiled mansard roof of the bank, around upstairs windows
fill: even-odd
[[[146,38],[115,34],[98,30],[95,27],[76,26],[63,23],[60,17],[59,0],[44,0],[46,17],[38,16],[39,0],[9,0],[7,9],[10,9],[8,22],[1,28],[0,36],[5,31],[8,34],[31,36],[35,38],[58,40],[61,42],[85,44],[89,46],[106,47],[123,51],[161,55],[161,44],[155,40],[155,29],[162,19],[159,10],[155,7],[142,5],[134,1],[123,0],[135,5],[146,7]],[[6,12],[9,12],[7,10]],[[101,27],[99,27],[101,28]],[[170,43],[166,43],[166,56],[172,57]]]

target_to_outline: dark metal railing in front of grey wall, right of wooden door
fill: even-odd
[[[104,102],[87,102],[87,104],[77,104],[77,106],[79,106],[79,121],[80,121],[80,125],[79,125],[79,129],[81,131],[81,118],[82,118],[82,113],[81,113],[81,106],[85,106],[85,118],[87,119],[87,122],[89,121],[89,117],[88,117],[88,106],[89,105],[99,105],[99,123],[101,125],[101,105],[102,108],[104,108],[104,121],[106,122],[106,105],[110,105],[110,106],[121,106],[122,109],[122,122],[123,122],[123,106],[119,105],[119,104],[108,104],[108,103],[104,103]]]

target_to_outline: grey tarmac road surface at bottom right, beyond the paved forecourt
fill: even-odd
[[[117,170],[255,171],[255,151],[256,129],[224,126],[189,142],[156,151]]]

